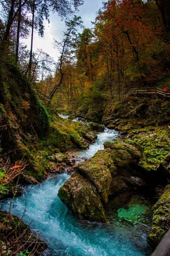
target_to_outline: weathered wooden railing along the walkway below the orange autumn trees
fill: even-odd
[[[158,87],[132,88],[125,92],[102,92],[101,94],[104,96],[123,96],[131,94],[159,94],[164,97],[170,97],[170,93]]]

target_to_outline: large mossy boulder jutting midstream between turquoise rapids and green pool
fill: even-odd
[[[75,166],[76,173],[59,189],[59,198],[79,219],[103,221],[102,204],[108,202],[108,196],[129,186],[146,186],[142,177],[129,167],[130,163],[139,163],[139,149],[121,141],[104,146],[104,150]]]

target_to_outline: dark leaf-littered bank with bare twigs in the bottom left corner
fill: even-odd
[[[36,231],[31,231],[23,222],[22,216],[17,218],[10,211],[0,212],[0,255],[20,255],[22,252],[23,255],[39,256],[46,247]]]

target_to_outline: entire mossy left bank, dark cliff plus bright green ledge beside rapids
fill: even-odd
[[[11,163],[25,159],[25,175],[42,181],[54,153],[85,149],[96,134],[89,126],[50,116],[34,90],[35,84],[15,62],[0,57],[0,148]]]

